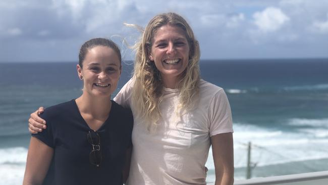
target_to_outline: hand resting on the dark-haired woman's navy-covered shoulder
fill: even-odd
[[[33,112],[28,119],[28,130],[31,133],[41,132],[42,129],[46,128],[46,122],[44,119],[39,117],[39,114],[43,113],[44,108],[40,107],[37,111]]]

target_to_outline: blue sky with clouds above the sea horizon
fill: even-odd
[[[201,59],[328,58],[328,0],[1,0],[0,62],[77,61],[93,37],[117,42],[124,60],[138,30],[176,12],[194,30]]]

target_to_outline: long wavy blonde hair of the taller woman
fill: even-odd
[[[176,13],[156,15],[150,20],[142,38],[136,44],[136,59],[133,72],[132,106],[136,108],[136,116],[146,120],[147,128],[156,125],[161,114],[159,104],[162,100],[163,82],[160,73],[150,61],[149,54],[156,31],[164,25],[177,26],[185,32],[189,44],[189,63],[183,72],[176,88],[180,91],[179,109],[188,110],[199,96],[199,43],[187,21]]]

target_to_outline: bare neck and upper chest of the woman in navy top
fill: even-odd
[[[112,107],[111,97],[90,97],[86,93],[76,99],[76,104],[81,114],[89,114],[96,119],[108,117]]]

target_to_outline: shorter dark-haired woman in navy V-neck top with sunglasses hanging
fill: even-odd
[[[133,116],[111,101],[121,70],[121,53],[112,40],[94,38],[82,45],[77,72],[83,93],[40,115],[47,127],[32,134],[23,184],[123,184]]]

